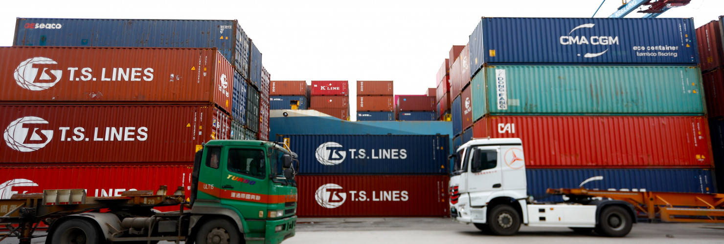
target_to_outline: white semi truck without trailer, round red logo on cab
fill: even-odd
[[[636,222],[633,205],[626,201],[571,196],[560,203],[535,203],[526,193],[521,139],[473,139],[450,158],[451,217],[483,232],[513,235],[523,224],[623,237]]]

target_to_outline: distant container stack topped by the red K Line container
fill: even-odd
[[[309,109],[326,113],[343,121],[350,120],[350,97],[347,81],[312,81]]]

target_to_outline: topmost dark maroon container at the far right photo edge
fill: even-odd
[[[696,28],[696,44],[699,45],[699,65],[702,71],[710,71],[723,65],[722,32],[718,20]]]

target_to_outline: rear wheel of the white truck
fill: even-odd
[[[631,232],[632,225],[631,216],[628,215],[626,209],[620,206],[609,206],[601,211],[596,232],[601,235],[620,238]]]

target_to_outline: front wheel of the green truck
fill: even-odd
[[[239,230],[227,219],[211,219],[196,233],[196,244],[238,244]]]

